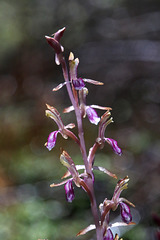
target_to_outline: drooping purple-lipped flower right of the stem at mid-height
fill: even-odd
[[[104,147],[105,142],[107,142],[109,145],[111,145],[113,151],[121,155],[122,150],[119,148],[117,141],[112,138],[105,138],[105,130],[106,127],[113,122],[113,118],[111,117],[111,113],[109,110],[107,110],[101,117],[100,123],[99,123],[99,132],[98,132],[98,138],[97,143],[99,144],[99,147],[102,149]]]

